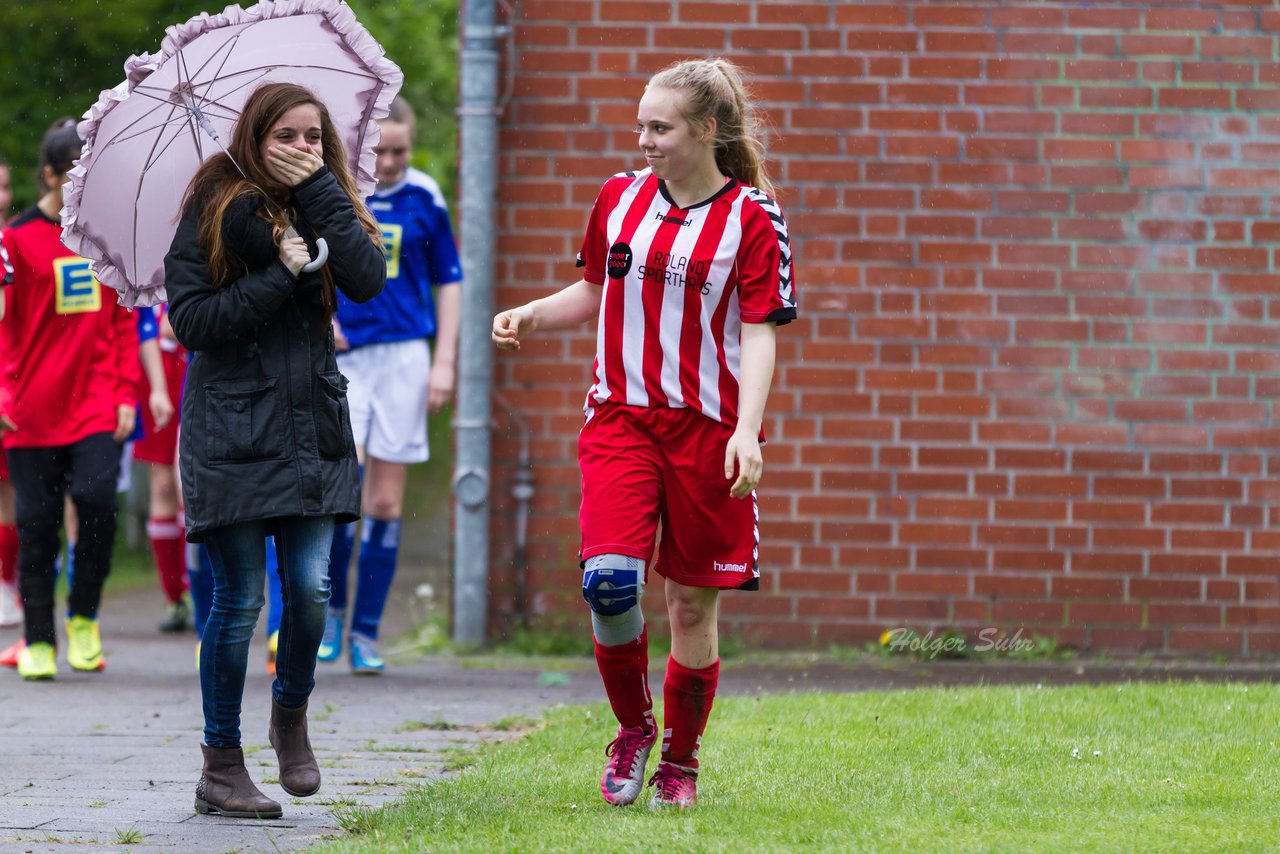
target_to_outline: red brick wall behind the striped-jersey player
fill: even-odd
[[[653,70],[728,55],[774,125],[801,320],[780,330],[767,417],[763,592],[726,597],[727,629],[1280,650],[1272,3],[522,0],[515,32],[500,305],[577,278],[600,182],[643,163]],[[534,437],[530,583],[550,621],[585,616],[593,350],[584,329],[499,357]]]

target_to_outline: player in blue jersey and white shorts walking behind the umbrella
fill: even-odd
[[[351,670],[376,675],[378,629],[399,558],[408,466],[428,458],[426,416],[453,397],[462,266],[444,195],[430,175],[408,165],[413,111],[402,97],[379,122],[383,136],[369,210],[387,255],[387,288],[357,303],[338,296],[338,369],[351,384],[351,426],[364,463],[364,513],[351,615]],[[435,343],[434,352],[429,342]],[[334,531],[332,598],[320,661],[342,654],[352,525]]]

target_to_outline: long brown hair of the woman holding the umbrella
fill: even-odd
[[[338,181],[338,186],[351,198],[356,218],[369,232],[369,239],[381,248],[381,230],[356,189],[356,181],[347,165],[347,147],[329,118],[329,110],[315,93],[302,86],[266,83],[255,90],[244,101],[244,109],[241,111],[241,118],[232,132],[232,142],[228,146],[230,157],[219,152],[206,160],[196,172],[196,177],[191,179],[187,196],[183,200],[184,207],[192,200],[196,200],[201,206],[200,248],[209,259],[209,269],[214,286],[218,288],[225,288],[247,271],[244,262],[237,259],[223,241],[223,219],[227,216],[227,209],[237,198],[259,195],[266,200],[266,204],[257,210],[257,215],[270,224],[275,243],[279,243],[289,229],[291,222],[284,211],[292,188],[273,178],[271,173],[268,172],[261,143],[275,123],[280,120],[280,117],[305,104],[310,104],[320,111],[320,146],[324,164]],[[234,157],[234,163],[232,157]],[[241,174],[236,164],[239,164],[244,174]],[[337,294],[333,274],[328,265],[323,268],[323,274],[324,305],[332,314],[337,306]]]

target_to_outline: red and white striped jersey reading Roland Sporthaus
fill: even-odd
[[[778,204],[731,178],[681,209],[649,169],[617,174],[577,262],[604,287],[588,406],[689,406],[735,425],[742,324],[796,316]]]

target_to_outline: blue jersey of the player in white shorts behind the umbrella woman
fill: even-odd
[[[406,169],[404,181],[369,197],[383,229],[387,288],[365,303],[338,292],[338,323],[352,348],[435,338],[431,288],[462,280],[444,195],[430,175]]]

